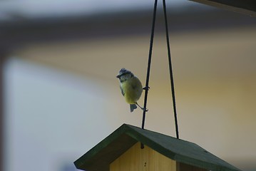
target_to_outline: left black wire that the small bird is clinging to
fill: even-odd
[[[151,56],[152,56],[152,49],[153,49],[153,40],[154,40],[154,32],[155,32],[155,16],[156,16],[156,7],[158,4],[158,0],[155,0],[154,5],[154,11],[153,11],[153,23],[151,28],[151,37],[150,37],[150,48],[149,48],[149,54],[148,54],[148,71],[147,71],[147,78],[145,81],[145,98],[144,98],[144,110],[143,110],[143,119],[142,119],[142,125],[141,128],[144,129],[145,125],[145,113],[147,108],[147,99],[148,99],[148,82],[149,82],[149,76],[150,76],[150,65],[151,65]]]

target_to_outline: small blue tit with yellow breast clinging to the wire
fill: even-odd
[[[122,95],[126,98],[126,102],[130,104],[130,112],[133,112],[137,108],[137,101],[143,91],[140,80],[125,68],[119,71],[116,78],[119,79]],[[140,105],[138,106],[140,107]],[[143,108],[141,109],[143,110]]]

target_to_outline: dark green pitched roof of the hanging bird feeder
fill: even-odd
[[[211,171],[239,170],[221,160],[193,142],[155,133],[150,130],[123,124],[111,135],[98,143],[91,150],[74,162],[76,168],[86,171],[108,171],[111,162],[116,160],[136,142],[152,148],[177,162]]]

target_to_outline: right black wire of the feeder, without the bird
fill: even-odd
[[[167,43],[167,48],[168,48],[170,85],[171,85],[171,90],[172,90],[172,95],[173,95],[173,112],[174,112],[174,118],[175,118],[175,130],[176,130],[176,137],[179,139],[178,119],[177,119],[177,112],[176,112],[174,81],[173,81],[173,68],[172,68],[172,61],[171,61],[171,56],[170,56],[170,42],[169,42],[168,21],[167,21],[165,0],[163,0],[163,13],[165,15],[165,32],[166,32],[166,43]]]

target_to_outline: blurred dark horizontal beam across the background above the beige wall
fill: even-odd
[[[255,18],[224,10],[205,11],[203,8],[194,6],[180,13],[170,9],[168,11],[170,11],[168,15],[170,16],[171,33],[256,25]],[[156,32],[165,30],[163,14],[160,12],[156,16]],[[36,42],[149,35],[151,13],[151,10],[145,9],[144,11],[126,11],[120,14],[113,12],[92,16],[1,22],[0,48],[12,51],[14,48]]]

